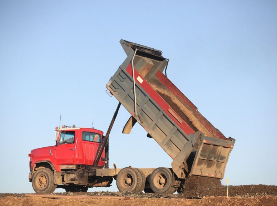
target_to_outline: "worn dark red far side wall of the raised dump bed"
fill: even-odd
[[[197,110],[197,107],[161,71],[158,71],[155,76],[189,111],[191,111],[195,118],[197,118],[197,120],[201,122],[201,124],[203,124],[203,126],[207,128],[215,138],[226,139],[217,128],[202,116]]]

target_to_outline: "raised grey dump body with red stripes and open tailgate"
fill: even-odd
[[[225,138],[163,74],[168,59],[161,51],[123,39],[120,43],[127,58],[106,87],[132,115],[123,133],[139,122],[173,159],[179,178],[222,179],[235,140]]]

